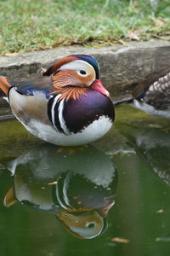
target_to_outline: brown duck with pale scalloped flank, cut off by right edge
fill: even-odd
[[[125,102],[134,108],[150,115],[170,118],[170,67],[150,73],[141,82],[129,84],[125,89],[132,90],[133,98]]]

